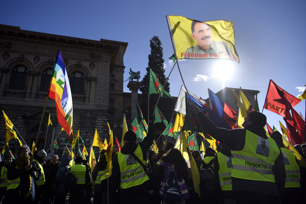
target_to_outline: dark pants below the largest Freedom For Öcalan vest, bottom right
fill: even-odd
[[[239,191],[237,193],[237,204],[280,204],[281,199],[272,196],[272,195],[264,195],[259,193],[252,193],[248,191]]]

